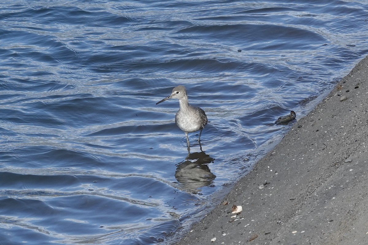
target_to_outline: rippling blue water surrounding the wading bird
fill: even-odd
[[[171,244],[368,53],[368,1],[0,6],[0,244]]]

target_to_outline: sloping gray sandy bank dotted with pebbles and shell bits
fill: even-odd
[[[368,57],[177,244],[368,244],[367,80]]]

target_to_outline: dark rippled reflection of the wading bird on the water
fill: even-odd
[[[183,162],[178,163],[175,178],[182,184],[182,188],[197,194],[199,188],[209,186],[216,178],[207,165],[213,161],[215,159],[204,151],[189,153]]]

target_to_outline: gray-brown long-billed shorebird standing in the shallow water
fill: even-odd
[[[201,130],[201,132],[199,132],[199,142],[201,140],[202,129],[204,129],[208,122],[207,116],[204,110],[189,104],[187,90],[183,85],[174,87],[171,94],[163,100],[157,102],[156,105],[171,98],[179,100],[180,108],[179,111],[176,112],[175,123],[181,130],[184,131],[185,136],[187,136],[187,144],[189,150],[188,133]]]

